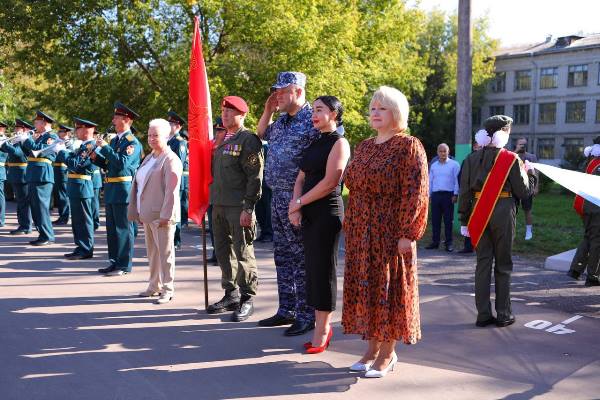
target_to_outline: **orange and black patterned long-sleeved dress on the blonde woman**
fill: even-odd
[[[342,326],[363,339],[421,339],[417,254],[398,255],[402,237],[427,225],[427,157],[416,137],[398,134],[360,143],[346,170],[346,269]]]

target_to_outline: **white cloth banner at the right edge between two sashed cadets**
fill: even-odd
[[[600,176],[531,163],[533,167],[565,189],[600,207]]]

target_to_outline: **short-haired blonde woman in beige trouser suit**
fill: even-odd
[[[150,121],[150,153],[135,174],[127,217],[144,224],[150,282],[140,297],[158,296],[156,304],[171,301],[175,288],[175,224],[180,220],[179,185],[183,166],[167,145],[171,132],[164,119]]]

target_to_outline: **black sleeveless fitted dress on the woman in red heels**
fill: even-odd
[[[322,133],[306,149],[300,169],[304,172],[302,194],[324,177],[327,158],[342,135]],[[306,302],[318,311],[333,311],[337,298],[337,254],[344,215],[342,185],[325,197],[302,207],[302,237],[306,263]]]

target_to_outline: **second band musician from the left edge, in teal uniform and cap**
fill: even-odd
[[[15,119],[15,135],[23,135],[33,130],[33,125],[23,121],[20,118]],[[25,181],[25,170],[27,168],[27,155],[21,147],[21,143],[11,144],[5,142],[0,150],[8,154],[6,160],[7,181],[10,183],[15,194],[17,203],[17,222],[18,227],[10,231],[11,235],[26,235],[31,232],[31,210],[29,208],[29,199],[27,197],[27,182]]]

